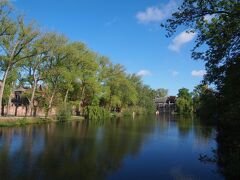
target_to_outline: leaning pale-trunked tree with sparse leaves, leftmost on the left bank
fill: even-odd
[[[9,35],[0,38],[0,45],[3,51],[1,59],[3,80],[0,90],[0,109],[2,106],[5,83],[10,71],[23,63],[24,60],[35,55],[35,53],[23,54],[23,51],[29,48],[39,35],[34,24],[25,25],[23,18],[18,18],[17,22],[12,24],[9,31]]]

